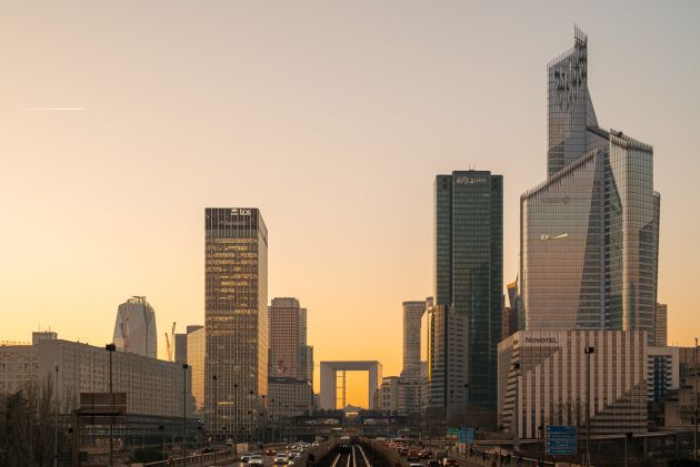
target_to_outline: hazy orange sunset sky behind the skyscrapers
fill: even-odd
[[[503,174],[514,278],[546,64],[578,22],[599,122],[654,146],[659,301],[690,345],[700,3],[492,3],[0,1],[0,339],[102,345],[146,295],[164,356],[173,321],[203,322],[204,207],[257,206],[269,298],[308,307],[317,365],[398,374],[401,302],[432,293],[436,174]]]

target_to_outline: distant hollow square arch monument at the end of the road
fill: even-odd
[[[338,372],[341,372],[341,408],[347,405],[346,372],[367,372],[369,408],[373,409],[374,392],[381,386],[381,364],[377,361],[321,362],[321,408],[333,410],[338,405]]]

